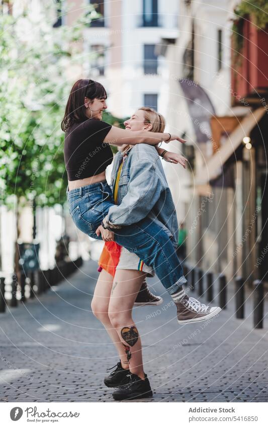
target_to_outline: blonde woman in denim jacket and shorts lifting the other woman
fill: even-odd
[[[124,124],[130,131],[163,132],[165,127],[163,116],[147,107],[137,110]],[[110,208],[109,217],[113,221],[120,218],[123,224],[139,224],[143,218],[150,218],[165,230],[176,247],[178,224],[175,207],[158,153],[163,156],[165,150],[158,148],[157,152],[154,147],[139,144],[126,145],[122,152],[116,154],[112,188],[117,205]],[[106,261],[101,257],[103,270],[96,285],[92,310],[107,329],[120,358],[115,371],[104,382],[108,387],[117,387],[113,392],[116,400],[151,397],[152,390],[143,370],[141,340],[132,318],[132,307],[142,282],[147,274],[153,275],[153,269],[134,252],[116,243],[111,245],[114,240],[111,231],[99,227],[97,233],[100,231],[103,239],[109,242],[104,251],[109,251],[110,245],[113,257],[106,258]],[[116,265],[111,265],[116,253]],[[111,274],[111,267],[115,270],[114,275]],[[203,320],[204,316],[214,311],[215,314],[219,312],[219,308],[207,307],[194,298],[188,300],[187,309],[192,311],[192,318],[195,310],[196,320]]]

